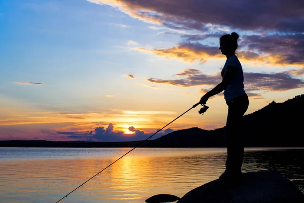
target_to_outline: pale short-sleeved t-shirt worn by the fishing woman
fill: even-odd
[[[236,67],[236,75],[232,78],[231,83],[224,90],[224,98],[226,101],[230,101],[235,97],[246,94],[244,90],[243,69],[237,56],[231,56],[227,58],[224,67],[221,71],[221,76],[223,77],[225,69],[229,65]]]

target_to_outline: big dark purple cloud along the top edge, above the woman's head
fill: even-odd
[[[254,31],[303,32],[303,1],[88,0],[173,29],[207,30],[208,24]]]

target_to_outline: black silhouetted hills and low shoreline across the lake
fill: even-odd
[[[246,147],[304,147],[304,94],[245,115]],[[0,147],[136,147],[134,142],[0,141]],[[224,127],[177,130],[142,147],[225,147]]]

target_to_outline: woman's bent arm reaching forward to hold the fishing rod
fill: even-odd
[[[228,65],[225,69],[221,83],[216,85],[212,90],[210,90],[204,96],[202,96],[200,104],[206,104],[209,97],[222,92],[230,84],[231,79],[234,77],[235,73],[236,73],[236,67]]]

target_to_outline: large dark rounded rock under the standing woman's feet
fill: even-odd
[[[236,180],[214,180],[197,187],[177,203],[298,203],[304,194],[275,172],[249,172]]]

